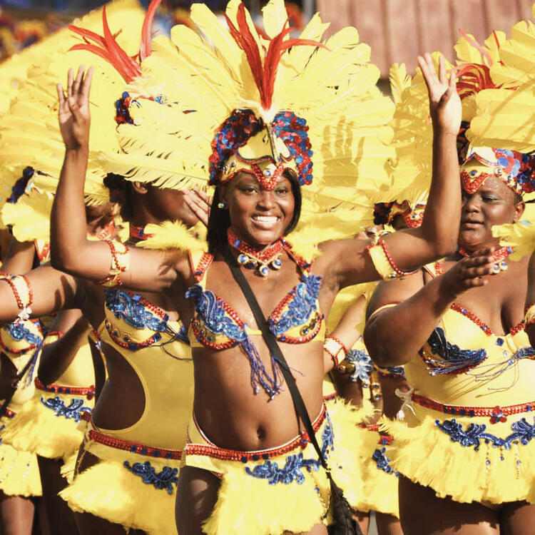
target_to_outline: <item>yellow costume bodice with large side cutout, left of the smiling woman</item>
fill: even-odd
[[[152,447],[181,449],[193,410],[193,362],[182,322],[121,287],[106,289],[102,341],[136,372],[145,393],[138,422],[114,436]]]

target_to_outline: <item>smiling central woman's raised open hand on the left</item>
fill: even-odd
[[[73,76],[73,69],[68,69],[66,93],[61,83],[57,85],[59,129],[63,143],[71,150],[88,150],[89,147],[89,91],[93,67],[88,68],[87,72],[84,72],[85,69],[83,65],[80,66],[76,78]]]

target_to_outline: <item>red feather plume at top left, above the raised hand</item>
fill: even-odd
[[[104,35],[99,36],[94,31],[86,30],[78,26],[68,26],[71,31],[82,36],[85,41],[85,43],[72,46],[69,50],[86,50],[92,54],[96,54],[111,63],[125,81],[133,81],[138,76],[141,76],[140,62],[151,54],[151,28],[156,9],[158,9],[161,1],[162,0],[152,0],[151,4],[148,6],[141,32],[141,48],[139,54],[136,54],[133,58],[128,56],[128,54],[121,49],[121,46],[117,44],[116,36],[113,36],[111,33],[108,26],[108,18],[106,16],[106,6],[102,9]],[[93,41],[93,43],[90,41]]]

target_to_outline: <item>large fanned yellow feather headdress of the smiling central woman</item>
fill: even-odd
[[[282,152],[295,162],[307,184],[304,197],[315,214],[325,215],[322,236],[328,238],[327,221],[339,208],[354,210],[351,234],[357,233],[362,205],[371,213],[363,194],[389,187],[386,163],[393,156],[392,101],[375,86],[379,70],[370,63],[370,47],[354,28],[321,41],[327,25],[319,15],[299,36],[306,44],[290,39],[282,0],[263,9],[265,35],[240,1],[231,0],[225,15],[228,26],[204,4],[193,4],[200,34],[175,26],[170,40],[153,41],[143,76],[126,88],[131,121],[118,126],[121,152],[101,153],[101,165],[159,187],[202,187],[230,165],[235,151],[225,153],[228,136],[248,128],[262,135],[269,126],[278,140],[269,146],[260,139],[258,151],[267,147],[275,168]],[[252,137],[244,136],[240,148]]]

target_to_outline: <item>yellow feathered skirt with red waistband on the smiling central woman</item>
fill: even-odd
[[[345,490],[346,459],[337,443],[343,431],[325,408],[312,424],[332,477]],[[327,475],[302,435],[279,447],[240,452],[215,446],[193,419],[183,464],[221,479],[218,500],[203,525],[208,535],[302,533],[331,521]]]

